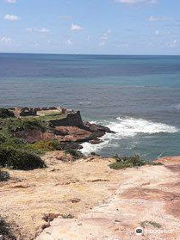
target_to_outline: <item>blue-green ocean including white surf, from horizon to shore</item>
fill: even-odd
[[[180,56],[0,54],[0,107],[64,106],[108,126],[83,152],[180,155]]]

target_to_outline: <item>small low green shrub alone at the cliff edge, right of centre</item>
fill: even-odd
[[[138,155],[134,155],[131,157],[119,157],[118,155],[116,155],[114,159],[116,160],[116,162],[109,165],[112,169],[140,167],[147,164],[147,162],[141,159]]]

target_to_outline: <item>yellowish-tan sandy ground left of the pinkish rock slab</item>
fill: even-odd
[[[48,153],[47,169],[9,171],[11,180],[0,183],[0,214],[21,232],[20,239],[34,239],[42,231],[44,214],[77,217],[102,204],[121,181],[121,174],[107,167],[112,160],[63,163],[57,158],[62,158],[60,152]]]

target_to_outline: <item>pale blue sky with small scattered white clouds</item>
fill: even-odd
[[[0,52],[180,55],[180,0],[0,0]]]

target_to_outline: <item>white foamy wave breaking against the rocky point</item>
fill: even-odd
[[[95,122],[93,122],[95,123]],[[128,137],[135,137],[137,134],[158,134],[158,133],[176,133],[179,130],[164,123],[157,123],[148,121],[145,119],[137,119],[130,117],[118,117],[115,121],[104,121],[96,122],[109,127],[114,134],[107,133],[101,139],[103,140],[100,144],[83,143],[83,154],[90,154],[91,152],[98,152],[104,147],[115,147],[118,146],[118,141]]]

